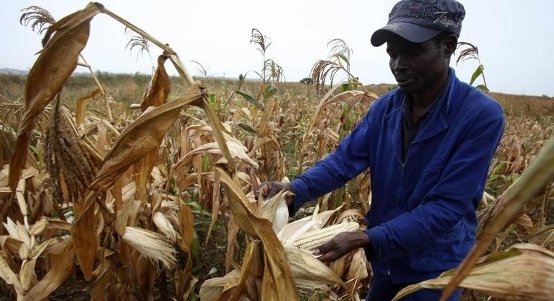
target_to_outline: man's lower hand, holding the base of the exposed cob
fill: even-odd
[[[370,237],[363,231],[341,232],[317,248],[313,255],[320,255],[319,260],[330,262],[341,258],[355,248],[362,248],[368,244],[370,244]]]

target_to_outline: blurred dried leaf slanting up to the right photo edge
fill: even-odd
[[[506,200],[499,211],[488,221],[485,228],[480,233],[473,250],[466,256],[463,262],[456,270],[452,281],[443,290],[440,300],[445,300],[459,286],[459,283],[471,271],[480,255],[485,252],[487,246],[491,243],[494,236],[501,231],[504,226],[517,216],[525,203],[532,200],[539,191],[546,187],[554,178],[554,138],[550,139],[548,144],[541,149],[535,160],[525,169],[520,178],[513,183],[510,190],[506,193]]]

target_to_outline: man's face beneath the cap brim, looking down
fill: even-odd
[[[387,41],[386,52],[396,83],[406,94],[438,90],[444,84],[449,63],[444,43],[433,39],[412,43],[394,36]]]

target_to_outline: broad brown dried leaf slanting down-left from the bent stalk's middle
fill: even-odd
[[[106,190],[112,186],[130,165],[158,148],[165,132],[175,123],[183,106],[201,102],[203,97],[203,88],[192,85],[184,96],[139,116],[126,127],[116,145],[106,155],[100,171],[90,184],[90,189]]]

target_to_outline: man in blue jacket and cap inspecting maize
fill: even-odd
[[[464,15],[454,0],[398,2],[371,43],[386,43],[399,88],[380,97],[333,153],[290,184],[260,186],[269,197],[291,190],[294,212],[370,168],[367,230],[340,233],[317,251],[320,260],[332,261],[365,248],[374,270],[366,300],[391,300],[401,288],[457,267],[475,242],[475,210],[504,116],[449,67]],[[403,300],[439,296],[420,290]]]

